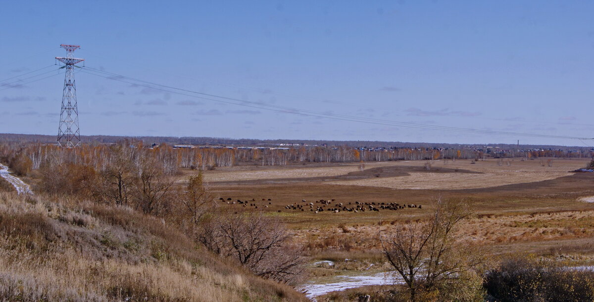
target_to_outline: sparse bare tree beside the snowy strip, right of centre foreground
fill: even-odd
[[[409,288],[410,301],[416,301],[421,291],[464,280],[484,263],[480,253],[456,236],[457,225],[470,215],[469,201],[440,198],[431,221],[380,233],[384,255]]]

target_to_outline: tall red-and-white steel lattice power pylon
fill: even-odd
[[[65,148],[72,148],[80,145],[74,67],[76,63],[83,62],[84,59],[77,59],[72,56],[74,50],[77,50],[80,46],[66,44],[61,44],[60,46],[66,49],[66,58],[56,56],[56,60],[65,64],[62,68],[66,68],[66,76],[64,78],[64,92],[62,93],[58,145]]]

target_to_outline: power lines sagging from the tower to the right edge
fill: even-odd
[[[189,97],[201,98],[204,100],[211,100],[211,101],[217,101],[220,103],[235,104],[235,105],[239,105],[239,106],[253,107],[253,108],[257,108],[257,109],[271,110],[271,111],[283,112],[283,113],[292,113],[292,114],[313,116],[313,117],[323,117],[323,118],[327,118],[327,119],[346,120],[346,121],[350,121],[350,122],[369,123],[369,124],[375,124],[375,125],[402,126],[402,127],[406,127],[406,128],[416,128],[416,129],[430,129],[430,130],[456,131],[456,132],[467,132],[467,133],[470,132],[470,133],[483,133],[483,134],[498,134],[498,135],[516,135],[516,136],[529,136],[529,137],[536,137],[536,138],[592,139],[592,138],[580,138],[580,137],[576,137],[576,136],[542,135],[542,134],[536,134],[536,133],[519,133],[519,132],[507,132],[507,131],[490,131],[490,130],[472,129],[472,128],[457,128],[457,127],[450,127],[450,126],[426,125],[426,124],[421,124],[421,123],[400,122],[400,121],[394,121],[394,120],[369,119],[366,117],[337,115],[337,114],[333,114],[333,113],[322,113],[322,112],[315,112],[312,110],[303,110],[303,109],[296,109],[296,108],[292,108],[292,107],[277,106],[277,105],[259,103],[259,102],[254,102],[254,101],[241,100],[241,99],[232,98],[232,97],[217,96],[214,94],[202,93],[200,91],[192,91],[192,90],[187,90],[184,88],[172,87],[169,85],[163,85],[163,84],[158,84],[158,83],[154,83],[154,82],[139,80],[139,79],[127,77],[124,75],[115,74],[113,72],[102,71],[100,69],[95,69],[95,68],[90,68],[90,67],[87,67],[87,68],[93,72],[89,72],[89,71],[82,71],[82,72],[85,72],[85,73],[91,74],[91,75],[96,75],[98,77],[107,78],[109,80],[126,82],[128,84],[139,85],[141,87],[147,87],[147,88],[151,88],[154,90],[166,91],[169,93],[181,94],[181,95],[189,96]],[[100,74],[97,74],[97,73],[100,73]],[[133,81],[133,82],[124,81],[121,79],[129,80],[129,81]],[[144,84],[138,84],[138,82],[144,83]],[[151,85],[153,85],[153,86],[151,86]],[[166,89],[157,88],[154,86],[163,87]],[[172,90],[183,91],[184,93],[177,93]],[[192,95],[185,94],[185,93],[192,93]],[[207,96],[207,97],[198,97],[193,94],[200,94],[201,96]],[[213,99],[210,97],[222,98],[223,100],[229,100],[229,101],[217,100],[217,99]],[[235,102],[239,102],[239,103],[235,103]],[[379,121],[381,121],[381,122],[379,122]]]

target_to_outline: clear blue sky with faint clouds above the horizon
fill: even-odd
[[[590,1],[1,5],[0,85],[52,65],[65,55],[59,44],[80,44],[75,56],[91,68],[219,96],[373,119],[594,137]],[[57,133],[64,69],[47,75],[54,74],[0,87],[0,132]],[[75,78],[83,135],[594,145],[322,119],[78,70]]]

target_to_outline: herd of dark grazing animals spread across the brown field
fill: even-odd
[[[225,202],[225,198],[220,198],[219,199],[222,202]],[[272,204],[272,199],[268,198],[263,198],[262,201],[265,203],[264,208],[268,208],[268,205]],[[233,201],[233,199],[231,198],[227,198],[226,199],[227,204],[229,205],[243,205],[243,206],[251,206],[255,209],[258,208],[258,205],[256,204],[256,200],[254,198],[252,198],[251,201],[242,201],[240,199],[237,199],[237,201]],[[266,202],[268,202],[268,204],[266,205]],[[315,207],[314,207],[315,206]],[[365,212],[365,211],[376,211],[379,212],[380,209],[386,209],[386,210],[391,210],[391,211],[396,211],[398,209],[406,209],[406,208],[418,208],[418,209],[422,209],[421,205],[413,205],[413,204],[397,204],[396,202],[358,202],[355,201],[355,203],[353,204],[352,202],[349,202],[348,204],[343,204],[342,202],[336,202],[334,199],[330,199],[330,200],[324,200],[324,199],[320,199],[319,201],[315,201],[314,202],[307,202],[305,199],[303,199],[301,201],[301,204],[290,204],[290,205],[286,205],[285,209],[290,209],[290,210],[296,210],[296,211],[306,211],[307,209],[309,209],[310,212],[314,212],[315,214],[318,214],[319,212],[334,212],[334,213],[338,213],[338,212]],[[281,210],[279,210],[279,212],[281,212]]]

